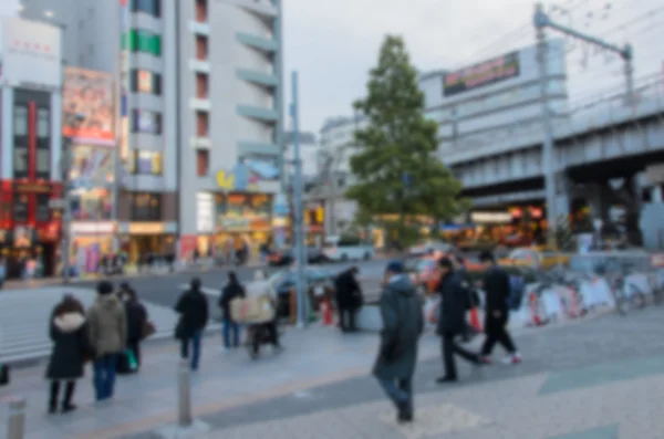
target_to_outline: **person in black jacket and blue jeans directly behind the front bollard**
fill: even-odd
[[[179,314],[175,337],[180,341],[180,357],[189,358],[190,353],[191,370],[198,370],[200,341],[209,316],[207,297],[200,291],[200,279],[191,280],[189,290],[178,299],[175,311]]]

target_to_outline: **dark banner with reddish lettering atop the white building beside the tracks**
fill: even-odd
[[[443,95],[446,97],[485,87],[519,76],[519,52],[470,65],[443,76]]]

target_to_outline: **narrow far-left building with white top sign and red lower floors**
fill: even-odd
[[[55,272],[62,236],[61,30],[3,19],[0,48],[0,258],[9,278]]]

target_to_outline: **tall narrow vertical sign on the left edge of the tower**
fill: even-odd
[[[129,151],[129,4],[120,0],[120,156],[126,160]]]

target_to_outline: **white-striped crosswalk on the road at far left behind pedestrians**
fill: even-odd
[[[0,292],[0,363],[46,357],[51,353],[49,317],[65,293],[75,295],[85,309],[96,297],[93,289],[48,286]],[[173,336],[177,314],[173,309],[144,302],[156,333],[151,338]]]

